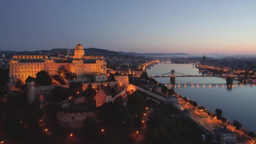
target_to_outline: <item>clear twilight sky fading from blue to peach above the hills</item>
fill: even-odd
[[[256,0],[0,0],[0,50],[256,54]]]

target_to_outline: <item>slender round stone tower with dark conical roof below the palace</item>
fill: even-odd
[[[29,76],[25,82],[27,85],[27,102],[28,104],[31,104],[36,99],[34,92],[35,78]]]

